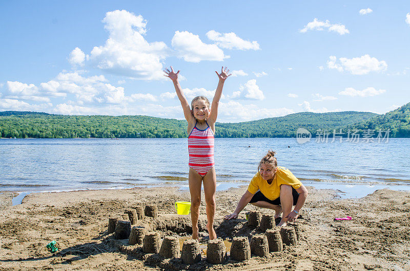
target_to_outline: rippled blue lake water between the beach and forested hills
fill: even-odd
[[[215,139],[217,189],[249,184],[268,149],[305,185],[355,197],[386,186],[410,190],[410,139],[298,144],[277,138]],[[0,191],[188,189],[188,169],[187,139],[0,140]]]

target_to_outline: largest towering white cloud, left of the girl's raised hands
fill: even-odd
[[[106,13],[103,20],[109,38],[103,46],[94,47],[90,61],[101,70],[135,79],[163,79],[161,60],[169,49],[164,42],[148,42],[147,22],[141,15],[126,10]]]

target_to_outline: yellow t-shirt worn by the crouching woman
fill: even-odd
[[[280,186],[290,185],[295,189],[298,189],[302,183],[292,172],[284,167],[277,167],[275,177],[272,180],[272,184],[268,184],[266,180],[262,178],[260,173],[252,178],[251,183],[248,186],[248,191],[255,194],[260,190],[262,194],[270,200],[277,199],[280,196]]]

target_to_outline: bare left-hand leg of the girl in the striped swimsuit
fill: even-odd
[[[189,192],[191,193],[191,221],[192,221],[192,239],[199,241],[198,219],[199,206],[201,205],[201,183],[202,176],[194,169],[189,168],[188,175]]]

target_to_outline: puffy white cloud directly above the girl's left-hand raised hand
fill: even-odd
[[[177,55],[188,62],[223,61],[223,59],[229,58],[216,44],[203,43],[198,35],[188,31],[176,31],[172,37],[171,45],[177,51]]]

